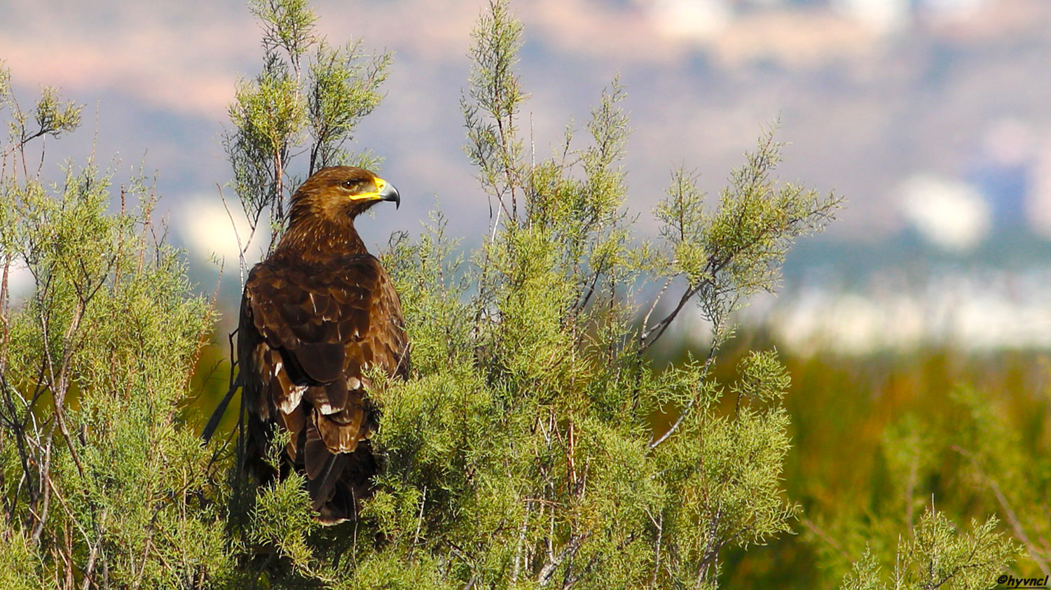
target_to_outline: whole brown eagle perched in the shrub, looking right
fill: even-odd
[[[380,201],[399,206],[400,195],[368,170],[318,170],[292,195],[288,231],[252,268],[241,300],[248,465],[272,478],[262,458],[273,425],[288,430],[280,476],[306,478],[324,524],[353,518],[376,472],[369,436],[379,414],[366,371],[409,371],[397,292],[354,230],[354,218]]]

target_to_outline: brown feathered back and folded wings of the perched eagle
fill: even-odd
[[[408,373],[397,292],[370,254],[324,267],[256,265],[245,283],[238,356],[249,413],[291,434],[288,454],[311,488],[330,488],[376,427],[364,373]],[[318,500],[314,489],[311,497]],[[331,496],[330,489],[318,491]]]

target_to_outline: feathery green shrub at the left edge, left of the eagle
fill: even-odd
[[[6,77],[6,75],[5,75]],[[0,250],[0,535],[5,588],[201,586],[228,577],[212,449],[174,419],[210,329],[141,177],[27,174],[34,138],[79,109],[45,89],[37,130],[9,94]],[[21,173],[21,174],[20,174]],[[119,203],[119,211],[110,212]],[[27,269],[33,291],[13,298]]]

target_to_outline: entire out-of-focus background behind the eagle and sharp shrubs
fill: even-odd
[[[480,0],[312,4],[331,41],[360,37],[394,52],[387,98],[351,147],[385,157],[403,207],[358,224],[367,244],[416,230],[436,203],[450,232],[477,244],[488,210],[461,149],[458,100]],[[522,129],[538,155],[571,121],[580,128],[619,72],[640,236],[656,235],[650,210],[673,168],[695,169],[717,196],[776,121],[789,144],[780,177],[848,199],[827,233],[794,249],[781,293],[740,314],[741,336],[724,352],[727,375],[748,347],[777,346],[788,364],[797,448],[785,480],[807,514],[803,535],[760,553],[766,561],[733,557],[730,581],[820,586],[815,564],[857,559],[836,518],[897,509],[880,498],[893,488],[885,449],[895,425],[950,431],[971,416],[961,389],[981,392],[1019,457],[1049,456],[1051,2],[535,0],[513,9],[531,92]],[[2,13],[0,59],[25,104],[55,85],[87,105],[88,124],[49,145],[48,159],[82,161],[95,142],[100,157],[119,154],[117,178],[156,171],[170,239],[187,249],[202,292],[218,276],[209,260],[226,257],[225,340],[240,277],[219,198],[230,180],[220,134],[235,81],[262,57],[244,3],[4,0]],[[680,347],[662,361],[703,344],[698,317],[678,331]],[[205,359],[203,387],[225,391],[224,354]],[[985,484],[953,471],[959,452],[945,457],[927,493],[960,514],[1003,511]],[[1046,511],[1032,518],[1051,522]],[[1051,554],[1047,539],[1030,536]]]

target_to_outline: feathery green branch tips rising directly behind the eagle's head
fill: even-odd
[[[232,187],[251,231],[239,236],[242,274],[252,236],[264,224],[270,248],[283,231],[285,198],[314,171],[337,164],[374,166],[369,153],[344,149],[358,121],[379,104],[390,54],[366,56],[357,42],[333,47],[314,34],[317,17],[306,0],[251,0],[263,25],[263,68],[238,83],[229,107],[232,128],[223,145]],[[306,60],[306,62],[304,62]],[[294,156],[310,154],[306,169]],[[302,174],[302,175],[298,175]]]

